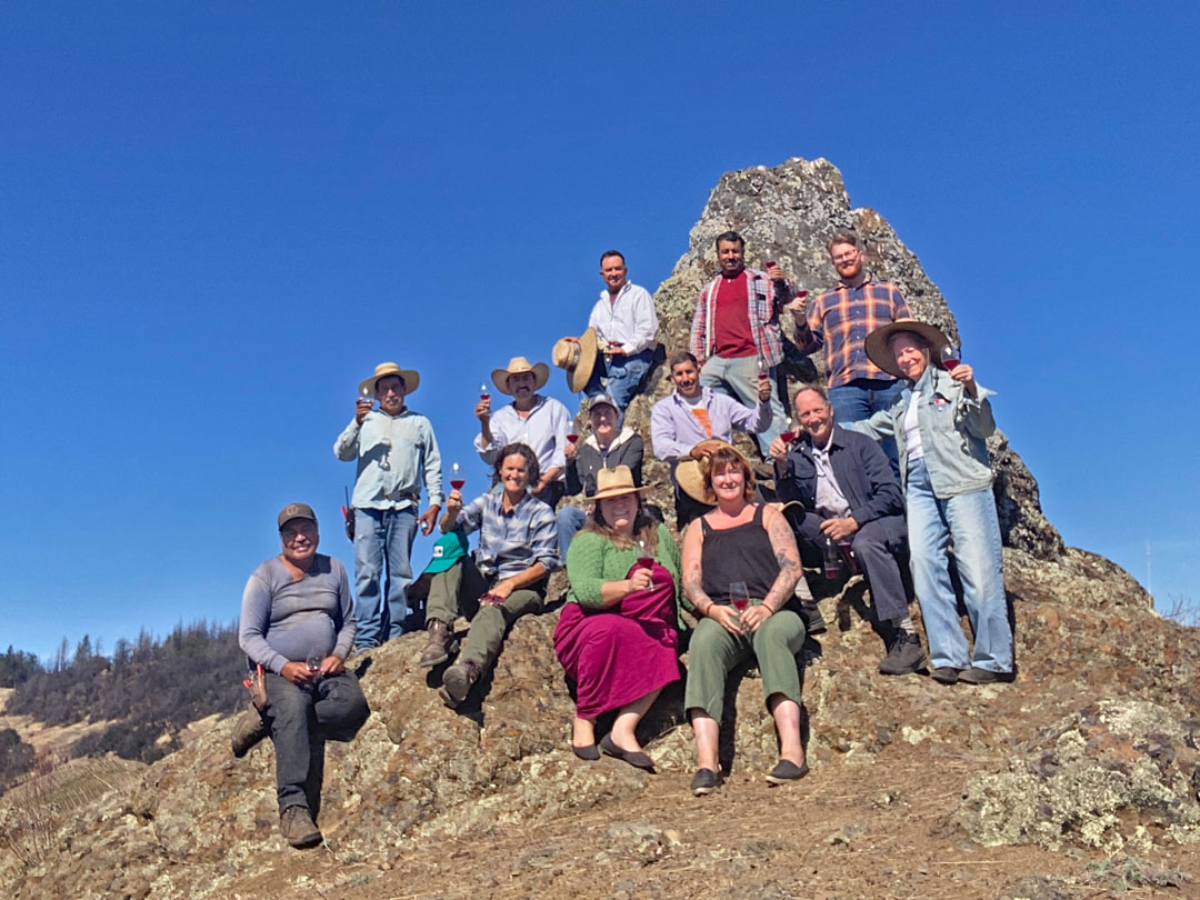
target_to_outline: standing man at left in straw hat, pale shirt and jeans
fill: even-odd
[[[334,443],[338,460],[358,461],[350,503],[356,642],[364,648],[378,647],[404,630],[416,528],[430,534],[442,509],[442,455],[433,426],[404,404],[420,382],[410,368],[380,362],[359,384],[354,420]],[[379,401],[378,409],[371,397]],[[422,486],[430,505],[418,515]]]

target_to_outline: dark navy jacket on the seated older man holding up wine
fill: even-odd
[[[834,425],[829,463],[854,521],[864,526],[877,518],[900,516],[896,538],[902,540],[904,494],[880,445],[865,434]],[[812,443],[808,437],[788,452],[776,485],[781,499],[799,500],[806,514],[816,514],[817,466],[812,460]]]

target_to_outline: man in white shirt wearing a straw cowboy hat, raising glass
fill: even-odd
[[[505,368],[492,370],[492,384],[512,397],[512,402],[494,414],[491,397],[475,406],[480,424],[475,450],[484,462],[493,466],[500,448],[515,443],[529,446],[541,469],[538,484],[529,485],[529,492],[553,508],[563,497],[564,448],[571,414],[553,397],[538,394],[548,379],[550,367],[545,362],[532,364],[524,356],[514,356]]]

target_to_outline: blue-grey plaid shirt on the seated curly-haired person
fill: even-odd
[[[456,527],[463,534],[479,532],[475,565],[488,577],[506,578],[534,563],[541,563],[547,572],[558,568],[554,510],[528,491],[509,512],[504,511],[504,491],[476,497],[463,506]]]

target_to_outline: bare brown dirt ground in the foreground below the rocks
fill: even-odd
[[[829,766],[796,785],[734,772],[695,798],[658,775],[620,803],[535,826],[498,827],[380,865],[336,836],[289,852],[287,878],[238,886],[242,899],[458,898],[1068,898],[1200,896],[1200,845],[1151,857],[980,847],[952,821],[965,779],[1000,760],[930,758],[899,742],[870,764]],[[581,766],[622,766],[612,760]]]

